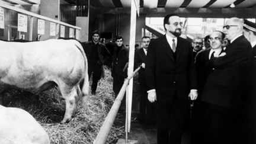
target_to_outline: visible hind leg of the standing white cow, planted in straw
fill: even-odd
[[[60,86],[60,92],[62,93],[62,97],[65,99],[65,103],[66,103],[65,115],[61,123],[69,122],[72,118],[72,114],[76,109],[76,98],[78,96],[76,87],[71,88],[69,86],[66,86],[66,87]]]

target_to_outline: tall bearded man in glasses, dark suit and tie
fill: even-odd
[[[192,46],[179,37],[181,25],[178,15],[166,15],[167,32],[151,41],[146,56],[148,100],[156,103],[158,144],[181,143],[188,97],[191,100],[197,97]]]

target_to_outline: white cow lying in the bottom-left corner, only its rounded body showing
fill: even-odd
[[[49,144],[49,136],[27,111],[0,105],[0,143]]]

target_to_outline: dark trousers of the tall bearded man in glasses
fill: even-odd
[[[188,102],[174,97],[172,101],[156,103],[158,144],[180,144]]]

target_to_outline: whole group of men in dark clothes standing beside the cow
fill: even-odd
[[[140,120],[155,117],[155,111],[158,144],[180,144],[193,101],[191,143],[255,143],[256,24],[233,17],[223,31],[192,43],[180,37],[181,27],[178,15],[166,15],[166,34],[155,40],[142,37],[142,48],[135,52],[135,68],[141,66]],[[111,59],[117,95],[127,76],[129,49],[120,36],[112,50],[99,38],[95,32],[84,43],[88,73],[95,77],[92,94],[101,67]]]

